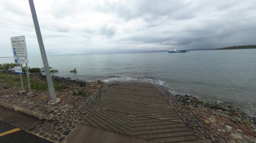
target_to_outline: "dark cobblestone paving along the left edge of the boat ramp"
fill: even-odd
[[[37,136],[61,143],[65,137],[75,128],[84,118],[85,114],[94,106],[100,95],[107,88],[105,85],[94,95],[89,97],[77,109],[70,109],[67,106],[61,106],[48,111],[44,121],[38,125],[29,128],[27,131]]]

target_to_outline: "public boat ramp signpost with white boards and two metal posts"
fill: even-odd
[[[26,48],[25,36],[11,37],[11,43],[12,43],[12,49],[13,49],[13,57],[17,58],[15,59],[15,63],[26,64],[26,70],[27,70],[28,59],[27,59],[27,48]],[[22,73],[22,70],[21,70],[21,73]],[[20,73],[20,82],[21,82],[22,92],[24,92],[21,73]],[[27,79],[28,79],[28,92],[30,93],[31,89],[30,89],[28,70],[27,70]]]

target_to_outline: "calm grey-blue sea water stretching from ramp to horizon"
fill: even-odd
[[[42,67],[29,57],[30,67]],[[48,56],[57,76],[85,80],[145,80],[171,92],[256,107],[256,49],[203,50],[188,53],[144,52]],[[0,58],[0,63],[13,63]],[[77,68],[77,74],[69,70]],[[248,111],[256,114],[254,111]]]

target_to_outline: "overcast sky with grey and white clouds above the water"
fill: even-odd
[[[256,0],[34,0],[48,55],[256,44]],[[0,0],[0,57],[25,35],[39,55],[28,0]]]

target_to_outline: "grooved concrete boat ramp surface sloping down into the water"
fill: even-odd
[[[196,136],[149,83],[113,83],[82,124],[157,143],[197,143]]]

